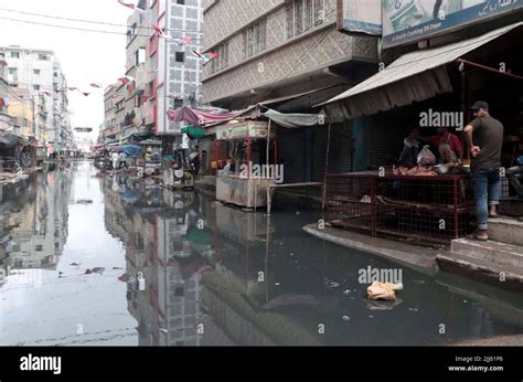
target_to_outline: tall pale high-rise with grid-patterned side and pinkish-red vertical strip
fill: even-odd
[[[182,144],[181,125],[171,124],[167,112],[200,103],[202,64],[192,51],[201,53],[202,0],[141,0],[138,8],[146,12],[135,12],[127,20],[126,75],[135,81],[116,89],[122,91],[122,104],[110,102],[109,92],[115,89],[106,91],[105,136],[115,139],[151,131]],[[167,38],[159,36],[152,25]],[[191,40],[180,43],[185,38]],[[122,124],[119,129],[114,119]]]

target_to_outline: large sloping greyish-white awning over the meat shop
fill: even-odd
[[[385,70],[327,103],[329,121],[343,121],[452,92],[446,64],[523,25],[517,22],[487,34],[445,46],[407,53]]]

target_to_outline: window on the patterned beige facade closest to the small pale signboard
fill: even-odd
[[[287,39],[300,35],[324,21],[324,0],[293,0],[287,4]]]

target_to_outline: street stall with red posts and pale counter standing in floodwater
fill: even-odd
[[[270,142],[273,165],[277,163],[275,137],[275,129],[267,120],[231,120],[216,127],[216,163],[221,160],[220,145],[227,145],[227,158],[223,158],[227,163],[216,179],[217,200],[245,208],[266,205],[267,188],[275,184],[274,173],[269,171]]]

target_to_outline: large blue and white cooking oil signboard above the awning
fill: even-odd
[[[413,43],[523,10],[523,0],[382,0],[383,47]]]

